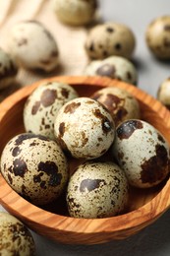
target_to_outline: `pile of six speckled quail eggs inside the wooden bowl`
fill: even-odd
[[[23,114],[25,133],[6,144],[1,172],[32,204],[55,204],[64,194],[71,217],[112,217],[127,211],[131,186],[156,186],[169,173],[166,139],[123,89],[87,97],[69,84],[44,82]]]

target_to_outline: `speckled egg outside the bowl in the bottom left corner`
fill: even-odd
[[[0,213],[0,255],[35,255],[35,245],[27,226],[8,213]]]

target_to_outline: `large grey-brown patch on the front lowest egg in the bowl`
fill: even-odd
[[[80,191],[85,192],[86,190],[88,192],[91,192],[94,189],[98,189],[99,187],[106,185],[106,182],[104,179],[84,179],[80,184]]]

